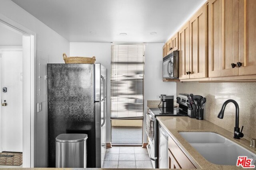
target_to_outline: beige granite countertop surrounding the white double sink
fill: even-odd
[[[190,161],[196,166],[196,168],[203,169],[225,169],[234,170],[241,169],[242,167],[217,165],[207,161],[196,149],[194,149],[183,137],[180,136],[179,132],[186,131],[202,131],[202,132],[214,132],[218,133],[231,141],[234,141],[238,145],[245,147],[251,152],[256,153],[256,148],[250,147],[250,141],[246,139],[234,139],[234,133],[223,129],[209,121],[191,119],[190,117],[168,117],[162,116],[157,117],[159,123],[164,127],[176,144],[182,149]]]

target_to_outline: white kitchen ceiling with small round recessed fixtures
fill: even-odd
[[[140,43],[164,43],[198,6],[205,2],[205,0],[12,1],[70,42]],[[156,34],[152,35],[151,32]]]

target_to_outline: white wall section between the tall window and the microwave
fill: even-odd
[[[148,43],[145,54],[144,77],[144,114],[147,113],[147,100],[159,100],[160,94],[173,95],[176,98],[176,82],[163,82],[162,73],[162,48],[164,43]],[[145,117],[145,116],[144,116]],[[146,119],[144,119],[144,125]],[[145,126],[144,126],[145,129]],[[144,133],[144,143],[147,143],[147,135]]]

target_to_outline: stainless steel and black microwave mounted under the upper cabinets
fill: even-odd
[[[179,78],[179,51],[163,58],[163,78]]]

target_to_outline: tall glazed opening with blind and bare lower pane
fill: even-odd
[[[113,145],[142,145],[145,44],[111,45],[110,119]]]

